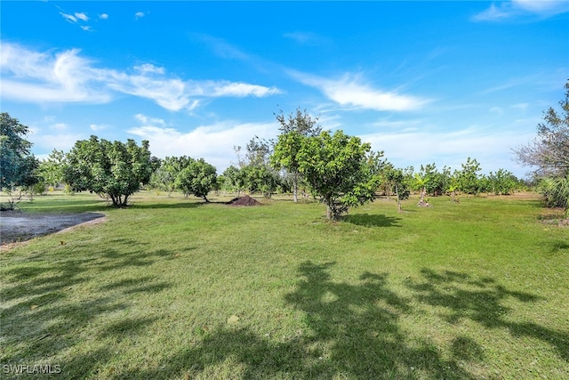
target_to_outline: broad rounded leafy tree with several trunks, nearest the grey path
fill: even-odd
[[[128,198],[150,180],[154,163],[148,150],[148,141],[139,147],[129,139],[121,141],[76,141],[68,153],[64,181],[74,191],[106,195],[114,206],[126,206]]]

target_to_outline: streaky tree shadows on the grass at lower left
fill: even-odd
[[[85,339],[92,339],[92,336],[84,336],[84,327],[103,316],[108,321],[100,324],[96,338],[121,339],[143,334],[144,327],[157,317],[132,315],[129,312],[133,307],[132,297],[157,294],[171,284],[153,276],[124,279],[122,269],[174,259],[176,253],[164,249],[143,252],[128,239],[116,244],[130,250],[121,247],[85,255],[77,247],[61,247],[60,254],[52,255],[54,260],[46,262],[41,260],[41,254],[29,255],[24,260],[34,264],[3,271],[0,299],[4,307],[0,318],[3,346],[10,349],[3,352],[1,364],[17,365],[21,358],[26,358],[25,364],[39,364],[44,363],[45,358],[72,350]],[[116,279],[111,277],[110,283],[98,283],[93,278],[93,269],[95,272],[115,271]],[[62,377],[83,378],[112,355],[100,349],[91,356],[94,360],[89,362],[60,363]]]

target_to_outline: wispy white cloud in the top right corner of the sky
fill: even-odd
[[[537,20],[547,19],[557,14],[569,12],[569,2],[559,0],[511,0],[490,4],[484,12],[472,17],[475,21],[501,21],[516,18],[533,17]]]

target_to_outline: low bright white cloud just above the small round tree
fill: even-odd
[[[237,124],[225,122],[217,125],[201,125],[189,132],[164,127],[160,119],[136,116],[142,125],[127,132],[150,141],[150,151],[158,158],[189,156],[204,158],[221,174],[231,163],[236,162],[235,146],[245,147],[252,136],[273,138],[278,131],[276,123]],[[156,126],[153,121],[158,120]],[[142,123],[147,121],[148,123]]]

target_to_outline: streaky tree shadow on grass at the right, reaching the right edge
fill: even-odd
[[[511,309],[504,301],[515,298],[519,302],[535,303],[542,300],[540,296],[511,291],[494,279],[471,279],[468,274],[456,271],[437,273],[423,269],[421,275],[423,281],[410,280],[407,287],[421,303],[444,307],[442,317],[447,321],[457,323],[471,319],[483,327],[506,328],[512,336],[527,336],[552,345],[559,357],[569,361],[569,334],[508,318]]]

